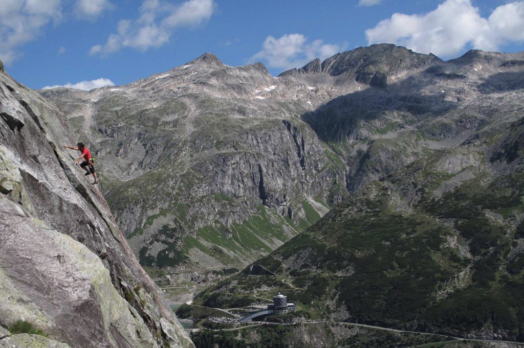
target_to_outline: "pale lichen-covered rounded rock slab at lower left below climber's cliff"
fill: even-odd
[[[0,199],[3,323],[24,318],[75,346],[158,344],[138,311],[118,294],[99,256]]]

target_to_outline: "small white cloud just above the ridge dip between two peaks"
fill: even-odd
[[[268,36],[262,45],[263,49],[249,58],[248,62],[264,60],[272,68],[300,68],[315,58],[329,58],[345,47],[345,44],[327,44],[322,40],[307,41],[306,37],[298,33],[282,35],[278,39]]]

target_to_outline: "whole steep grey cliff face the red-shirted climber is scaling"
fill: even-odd
[[[76,142],[56,106],[0,72],[0,346],[193,346],[62,148]],[[48,338],[11,335],[17,320]]]

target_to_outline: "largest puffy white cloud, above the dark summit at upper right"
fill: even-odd
[[[524,1],[498,6],[483,18],[471,0],[446,0],[429,13],[396,13],[366,30],[372,43],[395,43],[413,51],[450,57],[468,45],[496,51],[524,41]]]

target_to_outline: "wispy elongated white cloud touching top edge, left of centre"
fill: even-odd
[[[106,43],[91,47],[90,54],[107,54],[124,47],[146,51],[169,41],[171,33],[182,27],[198,26],[209,20],[216,5],[213,0],[188,0],[173,6],[160,0],[145,0],[136,20],[118,22],[116,33]]]

